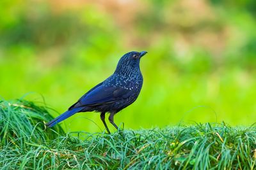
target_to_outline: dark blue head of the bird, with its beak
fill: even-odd
[[[143,55],[145,55],[147,52],[129,52],[125,53],[121,57],[121,59],[118,62],[118,65],[123,66],[136,66],[137,64],[140,64],[140,59]]]

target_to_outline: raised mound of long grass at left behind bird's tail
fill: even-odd
[[[49,120],[52,117],[44,106],[24,100],[0,101],[0,148],[6,145],[22,148],[30,141],[40,143],[64,134],[60,126],[53,131],[46,129],[44,122]]]

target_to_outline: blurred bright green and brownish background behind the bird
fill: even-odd
[[[0,15],[3,99],[27,94],[57,116],[112,74],[124,53],[146,50],[141,94],[116,124],[256,122],[256,1],[1,0]],[[104,129],[99,113],[62,125]]]

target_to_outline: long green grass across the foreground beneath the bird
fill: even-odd
[[[255,169],[255,125],[65,134],[58,125],[45,128],[52,118],[47,110],[1,101],[1,169]]]

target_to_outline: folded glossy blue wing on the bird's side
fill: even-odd
[[[87,92],[86,95],[81,97],[81,99],[70,108],[114,103],[120,99],[129,97],[133,91],[133,89],[124,89],[122,87],[104,87],[99,85],[90,92]]]

